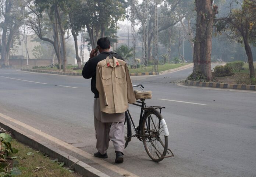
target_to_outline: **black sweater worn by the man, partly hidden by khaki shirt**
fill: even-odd
[[[112,51],[102,52],[98,56],[90,58],[88,62],[85,63],[85,66],[83,66],[83,71],[82,71],[83,77],[85,79],[92,78],[91,90],[92,90],[92,93],[94,93],[94,98],[99,98],[99,92],[96,89],[96,66],[98,62],[102,61],[103,59],[106,59],[107,56],[109,56],[110,54],[113,55],[115,58],[124,60],[122,57],[117,55],[117,53],[113,53]]]

